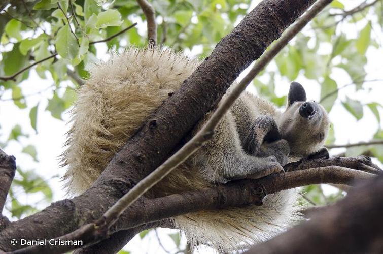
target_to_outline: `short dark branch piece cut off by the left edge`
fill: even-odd
[[[3,212],[9,188],[16,173],[16,161],[14,156],[7,155],[0,149],[0,214]]]

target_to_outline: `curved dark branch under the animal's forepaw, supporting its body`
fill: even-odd
[[[203,191],[184,192],[150,200],[145,199],[137,202],[135,206],[131,206],[131,209],[121,218],[123,223],[119,221],[119,224],[121,224],[119,228],[134,228],[203,209],[237,207],[247,204],[262,205],[262,200],[267,194],[284,189],[318,183],[351,184],[355,180],[365,180],[373,176],[373,174],[363,171],[329,166],[275,174],[256,180],[233,181]],[[143,207],[145,207],[145,210],[143,210]],[[102,223],[103,221],[100,219],[56,239],[83,240],[84,244],[97,242],[108,235],[108,230],[102,227]],[[75,248],[78,248],[78,246],[34,245],[21,249],[16,253],[41,253],[42,251],[61,253]]]

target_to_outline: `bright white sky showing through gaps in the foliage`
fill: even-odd
[[[348,5],[348,3],[352,3],[351,1],[343,1],[346,6],[350,6],[352,8],[352,4]],[[254,4],[253,4],[254,6]],[[370,18],[370,17],[369,17]],[[367,22],[367,21],[366,21]],[[358,24],[357,29],[354,25],[343,25],[342,29],[346,32],[347,36],[356,37],[356,31],[363,28],[365,23],[361,22]],[[144,24],[139,24],[138,29],[139,33],[143,36],[146,34],[146,26]],[[372,33],[372,37],[382,45],[383,42],[383,33],[378,28],[375,27]],[[106,46],[97,44],[98,55],[99,58],[106,58]],[[200,52],[201,47],[194,47],[193,50],[187,52],[188,55],[195,55]],[[329,48],[321,47],[319,53],[327,53]],[[374,80],[379,79],[383,80],[383,65],[381,63],[381,57],[383,56],[383,50],[380,47],[376,49],[374,47],[370,47],[366,53],[368,63],[366,66],[367,77],[366,80]],[[269,70],[276,70],[275,65],[270,65]],[[245,70],[239,77],[241,77],[247,73],[248,70]],[[53,80],[50,78],[50,75],[47,75],[49,78],[47,80],[42,80],[38,77],[36,72],[33,70],[30,72],[30,77],[28,80],[22,82],[21,87],[24,95],[34,94],[38,91],[44,90],[45,88],[51,86],[53,84]],[[336,80],[338,87],[341,87],[345,84],[351,83],[350,77],[340,69],[334,69],[331,77]],[[318,101],[320,98],[320,86],[316,81],[307,80],[300,75],[297,80],[300,82],[307,92],[307,98],[309,100]],[[287,94],[289,89],[289,82],[286,79],[277,79],[276,80],[276,93],[278,96],[283,96]],[[375,116],[371,113],[371,111],[365,106],[364,107],[364,116],[361,120],[356,121],[356,119],[347,112],[343,106],[340,104],[340,100],[345,99],[345,96],[349,96],[351,99],[355,99],[361,101],[363,104],[376,101],[383,104],[383,85],[382,81],[367,83],[364,87],[371,88],[370,90],[364,89],[356,92],[353,86],[346,87],[339,91],[338,100],[336,101],[332,111],[330,112],[330,119],[334,123],[335,126],[335,137],[337,144],[345,144],[345,143],[354,143],[359,141],[368,141],[372,138],[373,134],[376,132],[378,128],[378,124],[376,122]],[[250,91],[255,92],[255,88],[250,85],[248,88]],[[62,89],[61,92],[63,92]],[[65,169],[58,167],[58,156],[63,152],[63,143],[65,141],[65,133],[69,129],[68,122],[69,115],[63,114],[62,117],[64,121],[57,120],[50,115],[50,112],[45,111],[47,107],[47,98],[52,97],[52,89],[46,89],[41,92],[41,94],[36,94],[33,96],[28,96],[26,98],[26,103],[28,105],[27,109],[19,110],[12,101],[1,101],[0,102],[0,119],[2,120],[1,129],[0,129],[0,141],[4,142],[8,139],[9,133],[11,129],[16,124],[20,124],[22,126],[22,131],[29,135],[29,138],[21,138],[20,143],[16,141],[10,141],[7,146],[5,152],[8,154],[12,154],[16,157],[17,165],[19,165],[23,170],[31,169],[35,170],[39,175],[43,176],[44,179],[49,180],[49,184],[54,191],[54,201],[61,200],[65,196],[65,192],[62,190],[62,183],[59,181],[59,178],[54,177],[55,175],[59,175],[60,177],[64,174]],[[7,98],[11,98],[11,91],[6,91],[2,96],[2,99],[5,100]],[[39,104],[38,110],[38,134],[34,132],[31,128],[30,120],[29,120],[29,111],[35,106],[37,103]],[[383,118],[383,110],[379,109],[380,115]],[[381,126],[381,123],[379,123]],[[26,155],[21,152],[22,148],[26,145],[32,144],[36,146],[38,151],[38,159],[39,162],[34,162],[29,155]],[[344,151],[344,149],[333,149],[331,153],[337,154],[339,152]],[[376,162],[376,161],[375,161]],[[332,192],[331,188],[326,188],[326,192]],[[20,201],[28,202],[30,204],[34,204],[41,199],[39,195],[32,195],[29,197],[25,197],[25,195],[20,196]],[[44,208],[46,204],[43,202],[39,205],[39,208]],[[7,215],[7,214],[6,214]],[[160,229],[160,237],[163,242],[165,248],[167,250],[175,250],[175,245],[173,244],[170,237],[166,236],[162,233],[174,232],[173,230],[168,229]],[[128,245],[128,250],[133,251],[133,253],[166,253],[162,250],[162,248],[158,245],[156,239],[156,235],[153,232],[150,233],[143,241],[141,241],[138,237],[135,237]],[[182,241],[182,245],[184,246],[185,240]],[[171,251],[175,252],[175,251]],[[211,251],[201,251],[201,252],[211,252]]]

